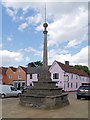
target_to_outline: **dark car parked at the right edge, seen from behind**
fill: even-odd
[[[90,85],[80,86],[77,90],[76,95],[77,95],[77,99],[90,98]]]

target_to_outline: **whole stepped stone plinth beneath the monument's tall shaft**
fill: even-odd
[[[43,71],[43,70],[42,70]],[[40,78],[34,82],[33,88],[20,96],[20,104],[36,108],[58,108],[69,104],[67,94],[62,93],[62,88],[56,87],[56,82],[48,78],[44,79],[45,72],[41,72]]]

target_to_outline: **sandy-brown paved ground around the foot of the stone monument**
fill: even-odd
[[[88,118],[88,100],[77,100],[69,93],[70,105],[59,109],[42,110],[19,105],[18,98],[2,100],[3,118]],[[90,102],[90,101],[89,101]],[[90,104],[90,103],[89,103]]]

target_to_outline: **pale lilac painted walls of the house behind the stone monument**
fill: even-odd
[[[74,90],[77,90],[82,83],[89,83],[89,78],[84,76],[73,74],[73,78],[72,78],[71,77],[72,73],[65,73],[65,71],[62,70],[62,68],[58,65],[57,62],[54,62],[52,64],[49,71],[51,72],[52,81],[57,81],[56,85],[58,87],[62,87],[65,91],[74,91]],[[59,79],[53,79],[53,73],[59,73]],[[64,75],[69,77],[68,81],[65,81]],[[33,81],[38,81],[37,74],[33,74],[32,79],[30,79],[30,74],[27,74],[27,86],[29,86],[30,83],[33,83]],[[68,87],[68,84],[69,84],[69,87]],[[71,84],[72,84],[72,87],[71,87]],[[77,87],[76,87],[76,84],[77,84]]]

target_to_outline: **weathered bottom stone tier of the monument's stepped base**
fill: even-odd
[[[36,107],[36,108],[60,108],[69,105],[67,94],[56,96],[42,96],[42,95],[25,95],[20,96],[20,104],[24,106]]]

